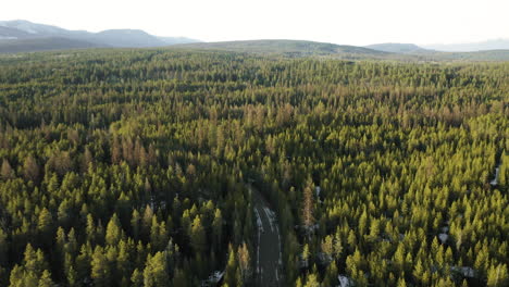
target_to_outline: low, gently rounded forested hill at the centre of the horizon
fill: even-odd
[[[387,54],[363,47],[302,40],[247,40],[224,42],[198,42],[177,45],[174,48],[194,48],[250,53],[277,53],[288,57],[344,55],[346,58],[378,58]]]

